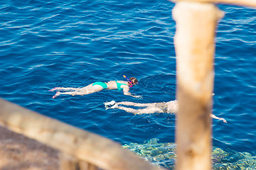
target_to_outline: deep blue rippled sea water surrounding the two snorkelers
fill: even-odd
[[[166,0],[0,2],[0,97],[126,144],[175,141],[175,115],[105,110],[105,101],[171,101],[176,96],[174,3]],[[256,152],[256,9],[220,4],[216,33],[213,145]],[[184,49],[186,50],[186,49]],[[86,96],[55,86],[137,77],[130,90]]]

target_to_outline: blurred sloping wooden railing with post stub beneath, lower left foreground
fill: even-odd
[[[162,169],[123,149],[117,142],[48,118],[1,98],[0,108],[2,126],[62,152],[62,170]]]

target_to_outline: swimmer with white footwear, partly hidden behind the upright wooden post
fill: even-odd
[[[123,101],[123,102],[105,102],[105,108],[118,108],[123,111],[134,113],[134,115],[141,115],[146,113],[177,113],[178,112],[178,101],[169,101],[169,102],[161,102],[161,103],[134,103],[129,101]],[[137,106],[142,107],[139,109],[134,108],[128,108],[124,106],[119,105],[125,105],[125,106]],[[224,123],[227,123],[227,121],[223,118],[218,118],[217,116],[210,114],[211,118],[215,118],[218,120],[223,120]]]

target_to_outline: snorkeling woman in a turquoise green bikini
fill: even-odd
[[[73,87],[55,87],[53,89],[50,89],[50,91],[58,91],[53,98],[56,98],[57,96],[60,96],[60,94],[70,94],[70,95],[85,95],[85,94],[92,94],[97,91],[102,91],[103,89],[118,89],[122,90],[124,92],[124,95],[132,96],[135,98],[139,98],[141,96],[134,96],[131,93],[129,93],[129,88],[134,86],[138,83],[138,80],[134,77],[127,78],[124,76],[128,81],[108,81],[108,82],[102,82],[97,81],[93,84],[90,84],[85,87],[81,88],[73,88]],[[67,91],[67,92],[60,92],[60,91]]]

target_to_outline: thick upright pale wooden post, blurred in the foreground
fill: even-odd
[[[181,1],[173,10],[177,64],[176,169],[211,169],[215,28],[223,17],[214,4]]]

